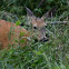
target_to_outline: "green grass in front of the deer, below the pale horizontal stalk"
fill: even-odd
[[[69,23],[48,24],[47,42],[0,51],[0,69],[69,69]]]

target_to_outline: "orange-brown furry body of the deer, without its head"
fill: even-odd
[[[29,37],[29,31],[24,28],[16,26],[12,22],[0,20],[0,48],[4,49],[9,43],[16,43],[14,39],[19,40],[20,32],[23,32],[23,37]]]

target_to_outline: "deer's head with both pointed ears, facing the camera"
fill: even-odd
[[[47,37],[46,37],[46,27],[47,23],[45,22],[45,18],[48,17],[48,12],[46,12],[41,18],[37,18],[33,12],[27,8],[27,14],[30,17],[31,19],[31,24],[32,24],[32,30],[34,33],[37,33],[37,38],[39,41],[48,41]]]

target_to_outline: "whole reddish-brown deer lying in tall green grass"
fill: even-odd
[[[37,18],[36,16],[33,16],[33,12],[27,9],[27,13],[31,19],[31,24],[32,24],[32,33],[38,32],[37,34],[37,39],[39,41],[47,41],[48,39],[46,38],[46,26],[47,23],[45,22],[45,17],[48,16],[48,13],[45,13],[41,18]],[[0,47],[1,49],[4,49],[10,45],[14,45],[16,40],[19,40],[20,33],[23,32],[23,37],[22,38],[24,40],[24,45],[27,42],[27,37],[30,37],[30,32],[27,31],[24,28],[21,28],[20,26],[16,26],[16,23],[12,22],[8,22],[4,20],[0,20]]]

